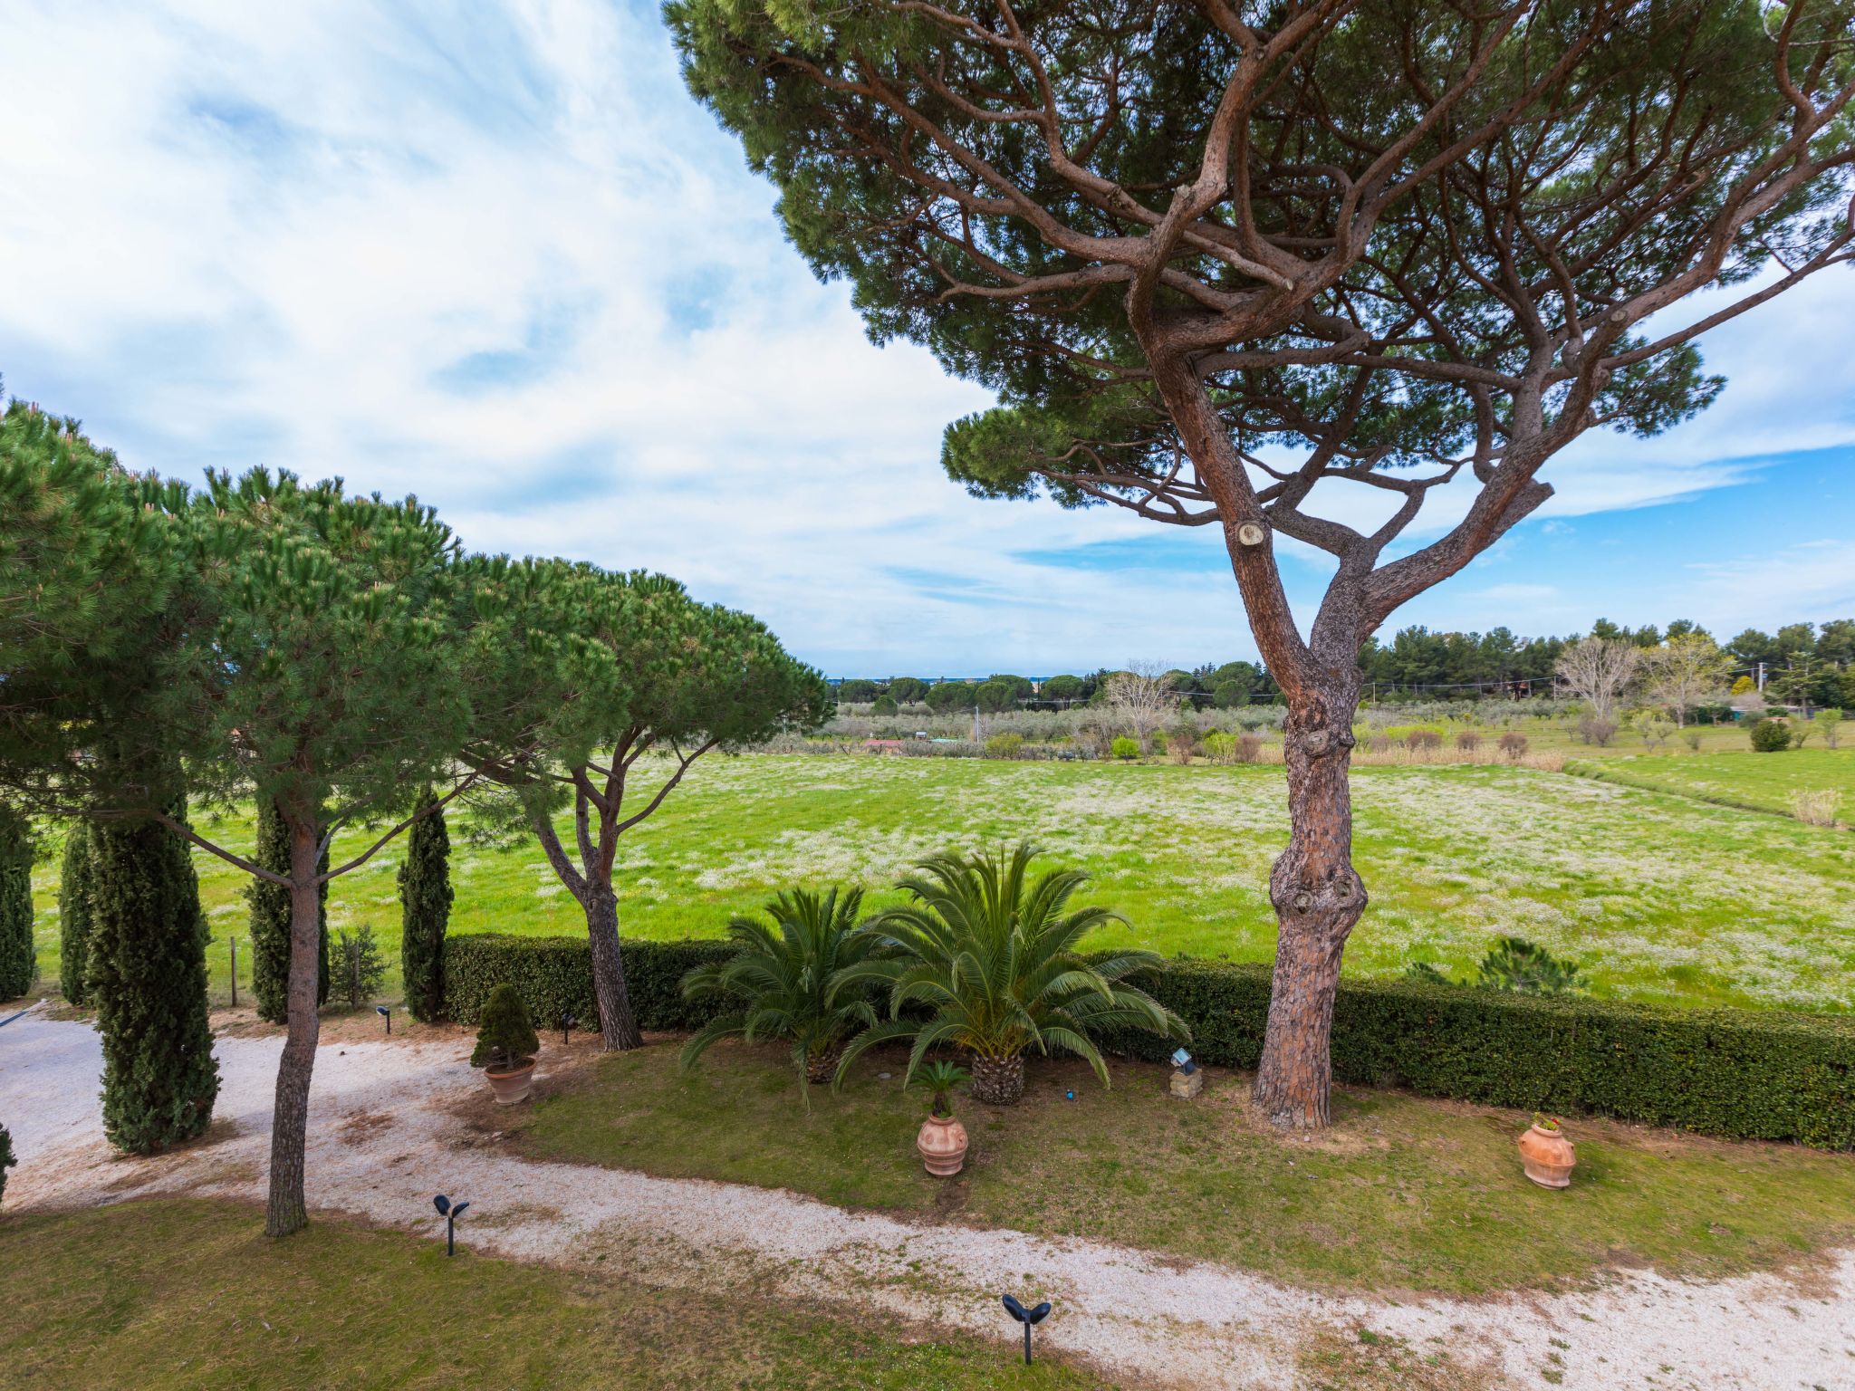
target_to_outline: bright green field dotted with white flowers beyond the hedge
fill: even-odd
[[[1675,786],[1690,764],[1694,777],[1855,785],[1855,747],[1606,766]],[[1373,901],[1347,948],[1349,974],[1397,974],[1412,959],[1462,974],[1497,935],[1517,933],[1582,961],[1599,994],[1855,1007],[1848,831],[1529,768],[1360,768],[1352,781]],[[219,833],[250,842],[249,825]],[[1087,868],[1091,901],[1128,918],[1096,946],[1232,961],[1267,961],[1274,950],[1265,887],[1287,838],[1276,766],[712,757],[625,838],[621,929],[718,935],[731,911],[779,887],[883,888],[929,851],[1020,835]],[[456,827],[453,838],[453,931],[584,929],[532,842],[475,848]],[[382,938],[395,961],[390,992],[399,989],[399,855],[390,846],[330,896],[334,925],[371,924]],[[245,879],[204,853],[197,864],[213,992],[224,1000],[226,938],[245,935]],[[39,959],[54,983],[56,868],[35,875]],[[249,987],[249,951],[239,964]]]

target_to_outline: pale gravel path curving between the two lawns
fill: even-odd
[[[0,1122],[20,1165],[7,1207],[70,1207],[148,1193],[260,1198],[278,1037],[221,1035],[208,1142],[160,1159],[102,1139],[100,1050],[85,1024],[33,1011],[0,1027]],[[1619,1274],[1579,1295],[1393,1304],[1321,1296],[1237,1269],[1087,1241],[915,1224],[785,1191],[534,1163],[503,1150],[482,1079],[454,1039],[325,1040],[310,1117],[313,1207],[441,1237],[432,1194],[471,1202],[473,1248],[705,1289],[853,1300],[1009,1339],[998,1296],[1050,1298],[1044,1345],[1130,1385],[1293,1387],[1297,1348],[1367,1328],[1447,1350],[1497,1385],[1855,1387],[1855,1252],[1807,1283],[1747,1276],[1682,1283]],[[556,1050],[558,1057],[558,1050]],[[544,1055],[544,1070],[547,1066]],[[556,1063],[571,1066],[573,1063]],[[1028,1300],[1026,1300],[1028,1302]],[[1553,1380],[1556,1374],[1558,1380]]]

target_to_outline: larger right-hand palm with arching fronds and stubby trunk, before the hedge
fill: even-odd
[[[1106,1085],[1093,1031],[1133,1026],[1187,1037],[1176,1015],[1126,983],[1133,972],[1161,964],[1159,955],[1117,951],[1089,961],[1076,951],[1093,927],[1122,918],[1098,907],[1065,912],[1087,875],[1052,870],[1031,883],[1037,853],[1020,842],[1009,857],[937,855],[902,881],[915,901],[870,927],[890,950],[846,966],[837,981],[840,990],[885,985],[890,1020],[851,1040],[838,1078],[864,1050],[913,1037],[907,1076],[931,1048],[963,1048],[972,1053],[972,1094],[1011,1104],[1024,1094],[1024,1053],[1031,1048],[1085,1057]],[[909,1005],[933,1013],[926,1022],[903,1018]]]

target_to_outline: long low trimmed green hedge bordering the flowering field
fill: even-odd
[[[701,1027],[690,966],[727,942],[625,942],[625,981],[646,1029]],[[490,987],[510,981],[538,1026],[597,1016],[582,937],[453,937],[451,1018],[475,1022]],[[1204,1063],[1252,1070],[1269,1018],[1269,966],[1174,961],[1146,989],[1191,1027]],[[1117,1031],[1104,1048],[1159,1061],[1172,1044]],[[1588,1111],[1705,1135],[1855,1148],[1855,1018],[1751,1009],[1664,1009],[1547,1000],[1423,981],[1345,981],[1334,1005],[1334,1076],[1425,1096],[1523,1111]]]

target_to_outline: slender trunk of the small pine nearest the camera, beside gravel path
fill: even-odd
[[[321,985],[321,905],[315,883],[315,825],[288,820],[289,827],[289,1029],[276,1063],[276,1107],[271,1117],[271,1193],[263,1209],[263,1233],[288,1237],[310,1224],[302,1194],[302,1155],[310,1128],[310,1076],[315,1070],[315,1039],[321,1018],[315,1000]]]

